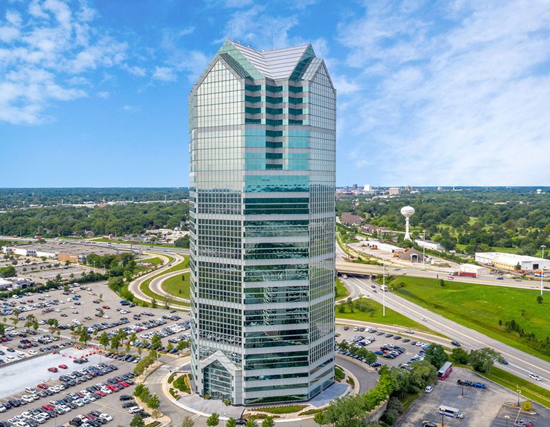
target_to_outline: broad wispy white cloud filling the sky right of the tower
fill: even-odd
[[[364,178],[380,184],[547,182],[536,155],[550,152],[547,1],[413,3],[369,3],[340,25],[359,72],[344,157],[357,173],[383,169]]]

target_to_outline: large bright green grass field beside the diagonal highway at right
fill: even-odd
[[[514,319],[525,332],[535,333],[539,340],[550,336],[550,297],[538,304],[536,298],[540,291],[450,280],[445,280],[445,286],[441,287],[435,279],[404,276],[393,278],[390,286],[401,283],[404,287],[395,289],[397,295],[550,362],[549,356],[534,350],[526,341],[498,325],[499,320],[505,323]]]

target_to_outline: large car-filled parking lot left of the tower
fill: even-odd
[[[74,299],[76,297],[76,299]],[[95,302],[94,302],[95,301]],[[8,399],[18,398],[28,394],[23,390],[27,387],[34,387],[38,384],[46,384],[47,386],[55,386],[60,384],[59,376],[65,373],[72,373],[81,370],[91,364],[99,364],[104,362],[114,364],[119,368],[109,375],[118,375],[120,373],[129,373],[133,371],[135,362],[122,362],[119,360],[109,359],[106,357],[109,353],[101,348],[96,341],[89,342],[89,346],[96,348],[75,348],[74,341],[78,337],[71,335],[70,325],[82,324],[90,334],[99,337],[103,331],[109,335],[115,335],[118,329],[124,329],[127,336],[131,333],[137,335],[137,341],[151,342],[153,333],[161,336],[162,346],[176,346],[179,340],[188,339],[188,324],[189,316],[184,311],[168,312],[164,309],[153,309],[138,307],[138,306],[122,306],[120,297],[113,293],[104,285],[91,284],[90,289],[80,289],[72,287],[67,295],[63,294],[63,290],[50,290],[45,293],[32,293],[32,295],[23,296],[23,298],[10,298],[7,301],[8,305],[2,304],[4,309],[12,310],[10,314],[5,311],[5,317],[14,317],[13,309],[21,310],[19,314],[20,322],[17,328],[12,326],[11,321],[6,337],[10,339],[7,342],[0,342],[0,351],[5,353],[0,359],[7,362],[7,357],[14,357],[12,363],[5,363],[0,366],[0,375],[3,379],[0,382],[0,402],[7,402]],[[36,316],[39,322],[39,329],[34,331],[30,328],[25,328],[25,317],[28,315]],[[176,317],[177,316],[177,317]],[[163,318],[164,317],[164,318]],[[50,330],[47,320],[55,319],[62,329]],[[11,324],[10,324],[11,323]],[[12,329],[13,328],[13,329]],[[25,336],[26,333],[26,336]],[[8,335],[10,334],[10,335]],[[36,334],[36,335],[33,335]],[[47,338],[46,338],[47,337]],[[172,344],[169,344],[171,342]],[[18,348],[23,346],[25,348]],[[118,351],[125,351],[126,342],[120,345]],[[14,350],[8,351],[8,348]],[[166,349],[166,348],[165,348]],[[177,356],[177,351],[174,349],[174,355],[162,355],[160,359],[166,357]],[[36,352],[36,355],[33,355]],[[22,353],[23,357],[17,357],[18,353]],[[96,354],[93,354],[96,353]],[[131,348],[130,355],[144,357],[147,355],[145,348]],[[75,358],[87,357],[86,364],[75,364]],[[59,365],[67,365],[67,369],[59,368]],[[48,368],[58,368],[58,372],[52,373]],[[82,384],[76,384],[62,390],[53,397],[43,397],[36,404],[30,402],[19,408],[10,408],[6,412],[0,414],[0,421],[8,421],[14,419],[16,415],[28,411],[28,408],[39,408],[46,404],[51,399],[61,399],[67,393],[74,393],[78,390],[84,390],[89,386],[104,382],[109,375],[104,375],[100,378],[94,378]],[[36,389],[38,390],[38,389]],[[67,424],[75,415],[89,413],[90,410],[99,410],[101,413],[109,413],[113,417],[114,425],[129,425],[132,415],[127,410],[122,409],[118,401],[119,394],[133,393],[133,386],[125,389],[120,393],[111,393],[98,399],[96,402],[91,402],[85,407],[76,408],[69,413],[58,415],[57,419],[48,419],[45,424],[54,426]],[[161,408],[162,409],[162,408]],[[1,427],[1,424],[0,424]],[[6,424],[8,427],[8,424]],[[34,426],[30,426],[34,427]]]

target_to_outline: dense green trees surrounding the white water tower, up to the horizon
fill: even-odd
[[[441,242],[445,249],[465,244],[465,252],[474,253],[517,247],[533,255],[550,236],[550,198],[532,188],[407,191],[388,199],[343,196],[336,210],[339,216],[349,212],[364,217],[366,224],[404,231],[400,211],[405,205],[415,208],[410,225],[426,229],[426,238]]]

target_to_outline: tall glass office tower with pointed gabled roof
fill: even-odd
[[[189,96],[191,366],[200,395],[333,382],[336,90],[311,45],[225,41]]]

